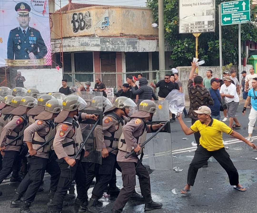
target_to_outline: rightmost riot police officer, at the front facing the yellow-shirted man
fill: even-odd
[[[141,154],[140,145],[145,141],[146,133],[162,126],[162,124],[146,125],[146,121],[152,120],[155,111],[156,108],[153,101],[142,101],[139,105],[139,111],[130,116],[131,120],[122,129],[122,136],[118,142],[117,162],[122,170],[123,188],[114,202],[112,213],[122,212],[135,189],[136,174],[139,178],[141,193],[145,199],[145,211],[162,208],[161,203],[154,202],[151,198],[149,173],[137,155],[133,154],[127,159],[125,158],[132,150],[137,154]]]

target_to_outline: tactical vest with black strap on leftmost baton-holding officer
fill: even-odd
[[[13,119],[14,115],[10,115],[8,118],[7,123],[9,123],[12,119]],[[6,136],[6,144],[10,143],[13,139],[17,138],[20,135],[23,135],[24,130],[27,128],[28,126],[28,118],[26,116],[26,114],[23,114],[22,116],[20,116],[23,119],[23,123],[22,123],[22,129],[19,132],[16,132],[15,130],[11,131],[11,133],[9,135]],[[10,146],[22,146],[23,145],[23,136],[19,137],[17,140],[13,141]]]

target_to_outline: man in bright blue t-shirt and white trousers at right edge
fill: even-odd
[[[251,108],[251,111],[249,114],[248,138],[247,138],[247,140],[249,140],[250,142],[253,142],[253,140],[252,140],[253,128],[254,128],[254,124],[257,119],[257,78],[253,78],[252,87],[253,88],[251,88],[248,91],[248,96],[244,103],[244,109],[242,111],[243,115],[245,115],[246,107],[248,106],[248,104],[251,101],[252,108]]]

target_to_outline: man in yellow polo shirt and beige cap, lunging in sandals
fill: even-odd
[[[201,135],[199,140],[200,145],[197,147],[195,156],[188,168],[187,185],[180,193],[187,194],[190,191],[190,187],[195,183],[198,169],[201,168],[211,156],[226,170],[230,184],[235,185],[234,189],[245,191],[246,189],[239,184],[237,170],[224,148],[222,132],[244,141],[247,145],[253,147],[253,149],[257,148],[256,145],[246,140],[225,123],[211,118],[211,110],[209,107],[201,106],[198,110],[194,110],[194,112],[197,113],[199,120],[190,128],[183,122],[181,114],[178,116],[179,124],[186,135],[191,135],[197,131],[199,131]]]

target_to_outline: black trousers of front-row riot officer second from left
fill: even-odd
[[[32,156],[32,157],[28,158],[29,164],[32,163],[33,168],[31,168],[31,166],[30,166],[29,172],[26,174],[25,178],[22,180],[22,182],[20,183],[19,187],[16,190],[17,193],[19,193],[21,196],[23,196],[23,194],[25,194],[25,192],[27,190],[29,190],[29,192],[26,193],[26,196],[27,196],[27,194],[32,195],[32,194],[36,193],[36,191],[33,188],[37,187],[37,185],[39,184],[39,183],[37,183],[39,177],[42,178],[42,175],[43,175],[43,178],[44,178],[45,171],[47,171],[51,175],[51,178],[50,178],[51,194],[54,194],[56,192],[61,171],[60,171],[60,167],[59,167],[58,163],[56,162],[56,159],[57,159],[56,154],[54,153],[54,151],[52,151],[51,154],[52,155],[50,156],[49,159],[47,159],[47,161],[44,160],[46,158],[41,159],[41,157],[37,157],[37,156]],[[43,164],[45,164],[45,162],[47,162],[47,165],[43,165]],[[42,164],[42,166],[39,164]],[[38,169],[35,169],[35,167],[38,167]],[[40,169],[40,167],[42,167],[42,168]],[[41,172],[40,172],[40,170],[41,170]],[[36,178],[37,180],[34,180],[35,175],[38,175],[38,178]],[[41,180],[41,182],[42,182],[42,180]],[[40,184],[41,184],[41,182],[40,182]],[[32,199],[33,197],[34,196],[29,198],[28,202],[33,202],[33,200],[34,200],[34,199]]]

